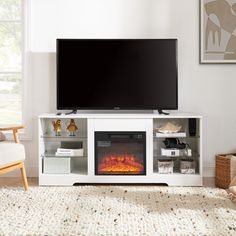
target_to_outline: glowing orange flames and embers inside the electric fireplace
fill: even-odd
[[[98,171],[99,173],[141,174],[144,171],[144,166],[131,154],[106,155],[99,163]]]

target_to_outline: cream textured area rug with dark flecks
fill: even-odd
[[[0,235],[236,235],[236,205],[203,187],[1,188]]]

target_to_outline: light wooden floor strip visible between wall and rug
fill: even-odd
[[[38,186],[38,178],[28,178],[29,186]],[[0,177],[0,187],[20,187],[23,186],[20,178]],[[203,178],[204,187],[215,187],[215,179],[213,177]]]

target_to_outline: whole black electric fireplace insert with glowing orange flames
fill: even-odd
[[[95,132],[96,175],[146,175],[145,132]]]

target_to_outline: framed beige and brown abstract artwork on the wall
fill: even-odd
[[[200,63],[236,63],[236,0],[201,0]]]

